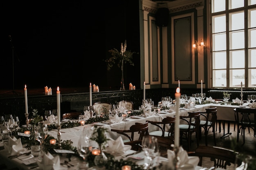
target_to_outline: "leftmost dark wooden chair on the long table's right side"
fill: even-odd
[[[148,135],[148,122],[143,124],[136,122],[134,125],[130,126],[128,130],[111,129],[111,131],[126,136],[128,140],[124,140],[124,143],[134,141],[135,133],[139,134],[138,139],[135,140],[142,140],[145,135]]]

